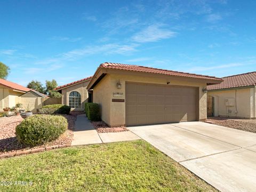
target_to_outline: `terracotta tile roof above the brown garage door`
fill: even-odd
[[[157,68],[137,66],[137,65],[127,65],[127,64],[121,64],[121,63],[105,62],[105,63],[102,63],[100,65],[100,67],[101,68],[127,70],[127,71],[138,71],[138,72],[143,72],[143,73],[154,73],[154,74],[171,75],[171,76],[181,76],[181,77],[192,77],[192,78],[200,78],[200,79],[222,80],[222,78],[213,77],[213,76],[197,75],[197,74],[183,73],[183,72],[173,71],[173,70],[157,69]]]

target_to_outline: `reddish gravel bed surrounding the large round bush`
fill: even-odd
[[[0,154],[11,153],[28,149],[36,149],[47,146],[71,145],[73,140],[73,130],[75,129],[76,116],[81,113],[70,113],[62,115],[67,118],[68,130],[60,135],[57,140],[45,143],[45,145],[28,147],[18,142],[15,135],[15,127],[23,120],[21,116],[1,117],[0,118]]]

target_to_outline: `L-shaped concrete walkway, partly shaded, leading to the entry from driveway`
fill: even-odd
[[[71,143],[72,146],[131,141],[140,139],[137,135],[130,131],[116,132],[116,133],[98,133],[86,115],[78,115],[75,123],[74,138]]]

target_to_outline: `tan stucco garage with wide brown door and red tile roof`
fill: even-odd
[[[87,89],[93,90],[103,121],[129,126],[203,121],[206,85],[221,82],[217,77],[106,62],[95,71]]]

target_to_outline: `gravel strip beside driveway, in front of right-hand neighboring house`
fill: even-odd
[[[256,133],[256,119],[209,117],[206,121],[215,125]]]

